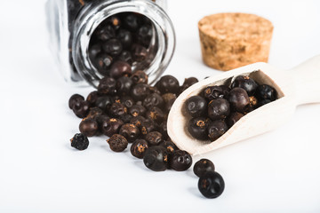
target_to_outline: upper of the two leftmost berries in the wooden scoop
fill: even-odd
[[[204,116],[207,112],[207,102],[201,96],[192,96],[187,99],[185,109],[192,117]]]

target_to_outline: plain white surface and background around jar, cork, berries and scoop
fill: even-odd
[[[271,20],[269,63],[276,67],[320,54],[316,0],[169,1],[178,43],[166,74],[180,83],[219,73],[203,65],[196,27],[215,12]],[[152,172],[128,149],[111,152],[104,137],[91,138],[84,152],[69,146],[79,119],[68,98],[92,89],[63,82],[44,25],[44,1],[0,7],[0,212],[320,212],[319,104],[298,107],[278,130],[205,154],[226,189],[218,199],[204,199],[191,169]]]

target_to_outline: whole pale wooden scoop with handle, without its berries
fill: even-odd
[[[198,95],[207,86],[230,85],[237,75],[249,75],[259,84],[273,86],[278,93],[278,99],[244,115],[213,142],[193,138],[187,129],[191,117],[185,111],[185,101]],[[172,141],[180,149],[186,150],[189,154],[204,154],[276,129],[292,116],[296,106],[316,102],[320,102],[320,55],[287,71],[263,62],[254,63],[214,75],[183,91],[169,113],[167,130]]]

